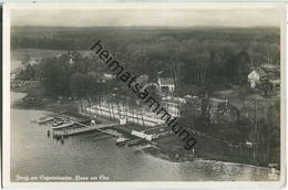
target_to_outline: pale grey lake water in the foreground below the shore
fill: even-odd
[[[12,93],[12,99],[22,95]],[[11,180],[32,176],[109,177],[115,181],[268,180],[268,169],[220,161],[169,162],[140,150],[117,147],[115,139],[93,141],[91,134],[73,136],[64,145],[39,126],[43,110],[11,109]]]

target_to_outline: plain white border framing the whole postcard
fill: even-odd
[[[93,6],[91,6],[93,4]],[[281,19],[281,175],[280,181],[178,181],[178,182],[11,182],[10,181],[10,10],[11,9],[255,9],[278,8]],[[282,188],[286,184],[286,3],[11,3],[3,6],[3,187],[4,188]]]

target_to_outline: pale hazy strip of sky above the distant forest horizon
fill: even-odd
[[[11,25],[277,27],[279,9],[17,9]]]

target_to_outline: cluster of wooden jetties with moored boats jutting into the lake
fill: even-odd
[[[53,125],[51,123],[54,122],[58,123],[59,120],[62,120],[62,124]],[[164,124],[156,125],[154,127],[150,127],[148,129],[142,128],[142,130],[137,127],[128,127],[130,125],[133,125],[131,123],[126,123],[123,120],[120,122],[107,122],[100,119],[84,119],[84,120],[78,120],[75,118],[66,118],[61,116],[50,116],[45,119],[41,120],[42,123],[49,123],[51,124],[51,128],[48,130],[48,136],[55,138],[56,140],[61,140],[62,144],[64,144],[64,138],[69,136],[74,136],[83,133],[97,133],[96,138],[94,137],[93,141],[99,141],[102,139],[111,138],[111,137],[123,137],[127,138],[124,141],[117,141],[116,145],[127,145],[127,146],[136,146],[142,142],[148,142],[156,145],[153,140],[157,139],[160,136],[155,133],[155,130],[158,130],[161,128],[165,128]],[[39,123],[40,124],[40,123]],[[122,126],[122,127],[116,127]],[[124,127],[125,126],[125,127]],[[133,129],[134,128],[134,129]],[[161,129],[163,130],[163,129]],[[95,136],[95,135],[93,135]]]

